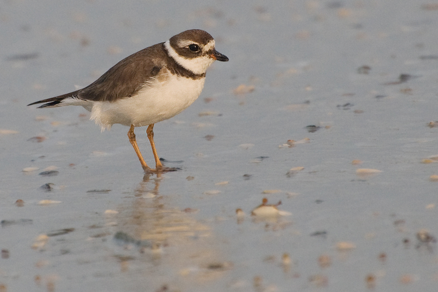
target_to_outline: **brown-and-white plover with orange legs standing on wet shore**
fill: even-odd
[[[165,167],[157,154],[154,124],[179,114],[199,97],[207,68],[216,60],[229,59],[216,51],[214,38],[203,30],[186,30],[129,55],[83,89],[28,106],[82,106],[91,112],[90,120],[101,131],[113,124],[128,126],[129,142],[145,173],[174,171]],[[143,126],[147,126],[155,168],[146,164],[135,139],[134,128]]]

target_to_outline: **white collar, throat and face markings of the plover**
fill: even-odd
[[[212,43],[213,42],[213,46]],[[180,43],[178,43],[179,45]],[[193,41],[189,41],[187,44],[193,44]],[[207,45],[205,45],[205,48],[207,46],[214,48],[215,41],[210,41]],[[169,41],[166,41],[164,43],[164,48],[167,50],[167,53],[170,57],[172,57],[178,64],[183,66],[185,69],[195,73],[195,74],[203,74],[207,71],[207,68],[215,61],[215,59],[204,55],[204,56],[198,56],[195,58],[185,58],[182,55],[179,55],[170,45]],[[205,51],[205,50],[203,50]]]

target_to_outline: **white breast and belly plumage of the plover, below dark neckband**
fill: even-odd
[[[91,120],[102,130],[113,124],[141,127],[161,122],[190,106],[201,94],[205,81],[172,74],[160,79],[145,85],[137,95],[115,102],[93,102],[89,108]]]

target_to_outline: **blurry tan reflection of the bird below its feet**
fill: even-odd
[[[134,260],[153,263],[152,270],[147,269],[150,265],[145,265],[148,281],[177,274],[180,288],[181,285],[193,287],[194,283],[213,284],[209,280],[224,275],[231,264],[224,261],[220,242],[210,226],[172,207],[172,196],[160,193],[160,186],[168,179],[161,174],[144,176],[134,190],[133,199],[129,198],[132,200],[128,205],[119,209],[119,234],[129,238],[125,244],[132,247],[130,254]],[[163,271],[169,274],[164,275]]]

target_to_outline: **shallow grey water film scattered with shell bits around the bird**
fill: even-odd
[[[435,4],[3,6],[1,289],[436,290]],[[100,133],[82,108],[26,107],[191,28],[230,61],[154,128],[180,171],[144,176],[128,127]],[[152,163],[146,128],[136,134]],[[263,198],[292,215],[251,216]]]

